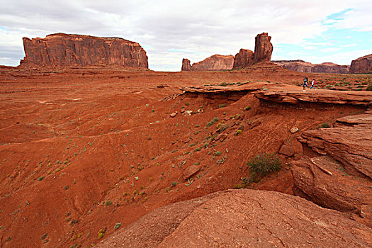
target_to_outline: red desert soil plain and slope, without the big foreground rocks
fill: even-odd
[[[90,247],[155,208],[235,187],[251,157],[283,145],[288,164],[249,188],[293,194],[291,162],[319,156],[298,138],[372,101],[367,91],[303,92],[294,85],[303,75],[271,63],[228,72],[0,67],[1,247]],[[337,216],[364,235],[342,242],[363,246],[371,230]]]

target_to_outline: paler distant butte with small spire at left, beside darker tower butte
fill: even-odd
[[[190,65],[190,60],[182,60],[183,71],[216,71],[222,69],[232,69],[234,56],[232,55],[213,55],[205,60]]]

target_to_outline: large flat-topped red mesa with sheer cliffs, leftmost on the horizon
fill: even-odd
[[[26,57],[21,66],[148,68],[147,55],[140,44],[122,38],[55,33],[46,38],[23,38],[23,46]]]

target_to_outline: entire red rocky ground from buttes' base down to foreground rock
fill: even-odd
[[[371,246],[372,94],[303,76],[1,67],[1,246]]]

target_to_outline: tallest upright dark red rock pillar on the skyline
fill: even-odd
[[[273,44],[271,44],[270,40],[271,36],[267,33],[261,33],[256,36],[256,42],[254,45],[254,63],[271,60]]]

